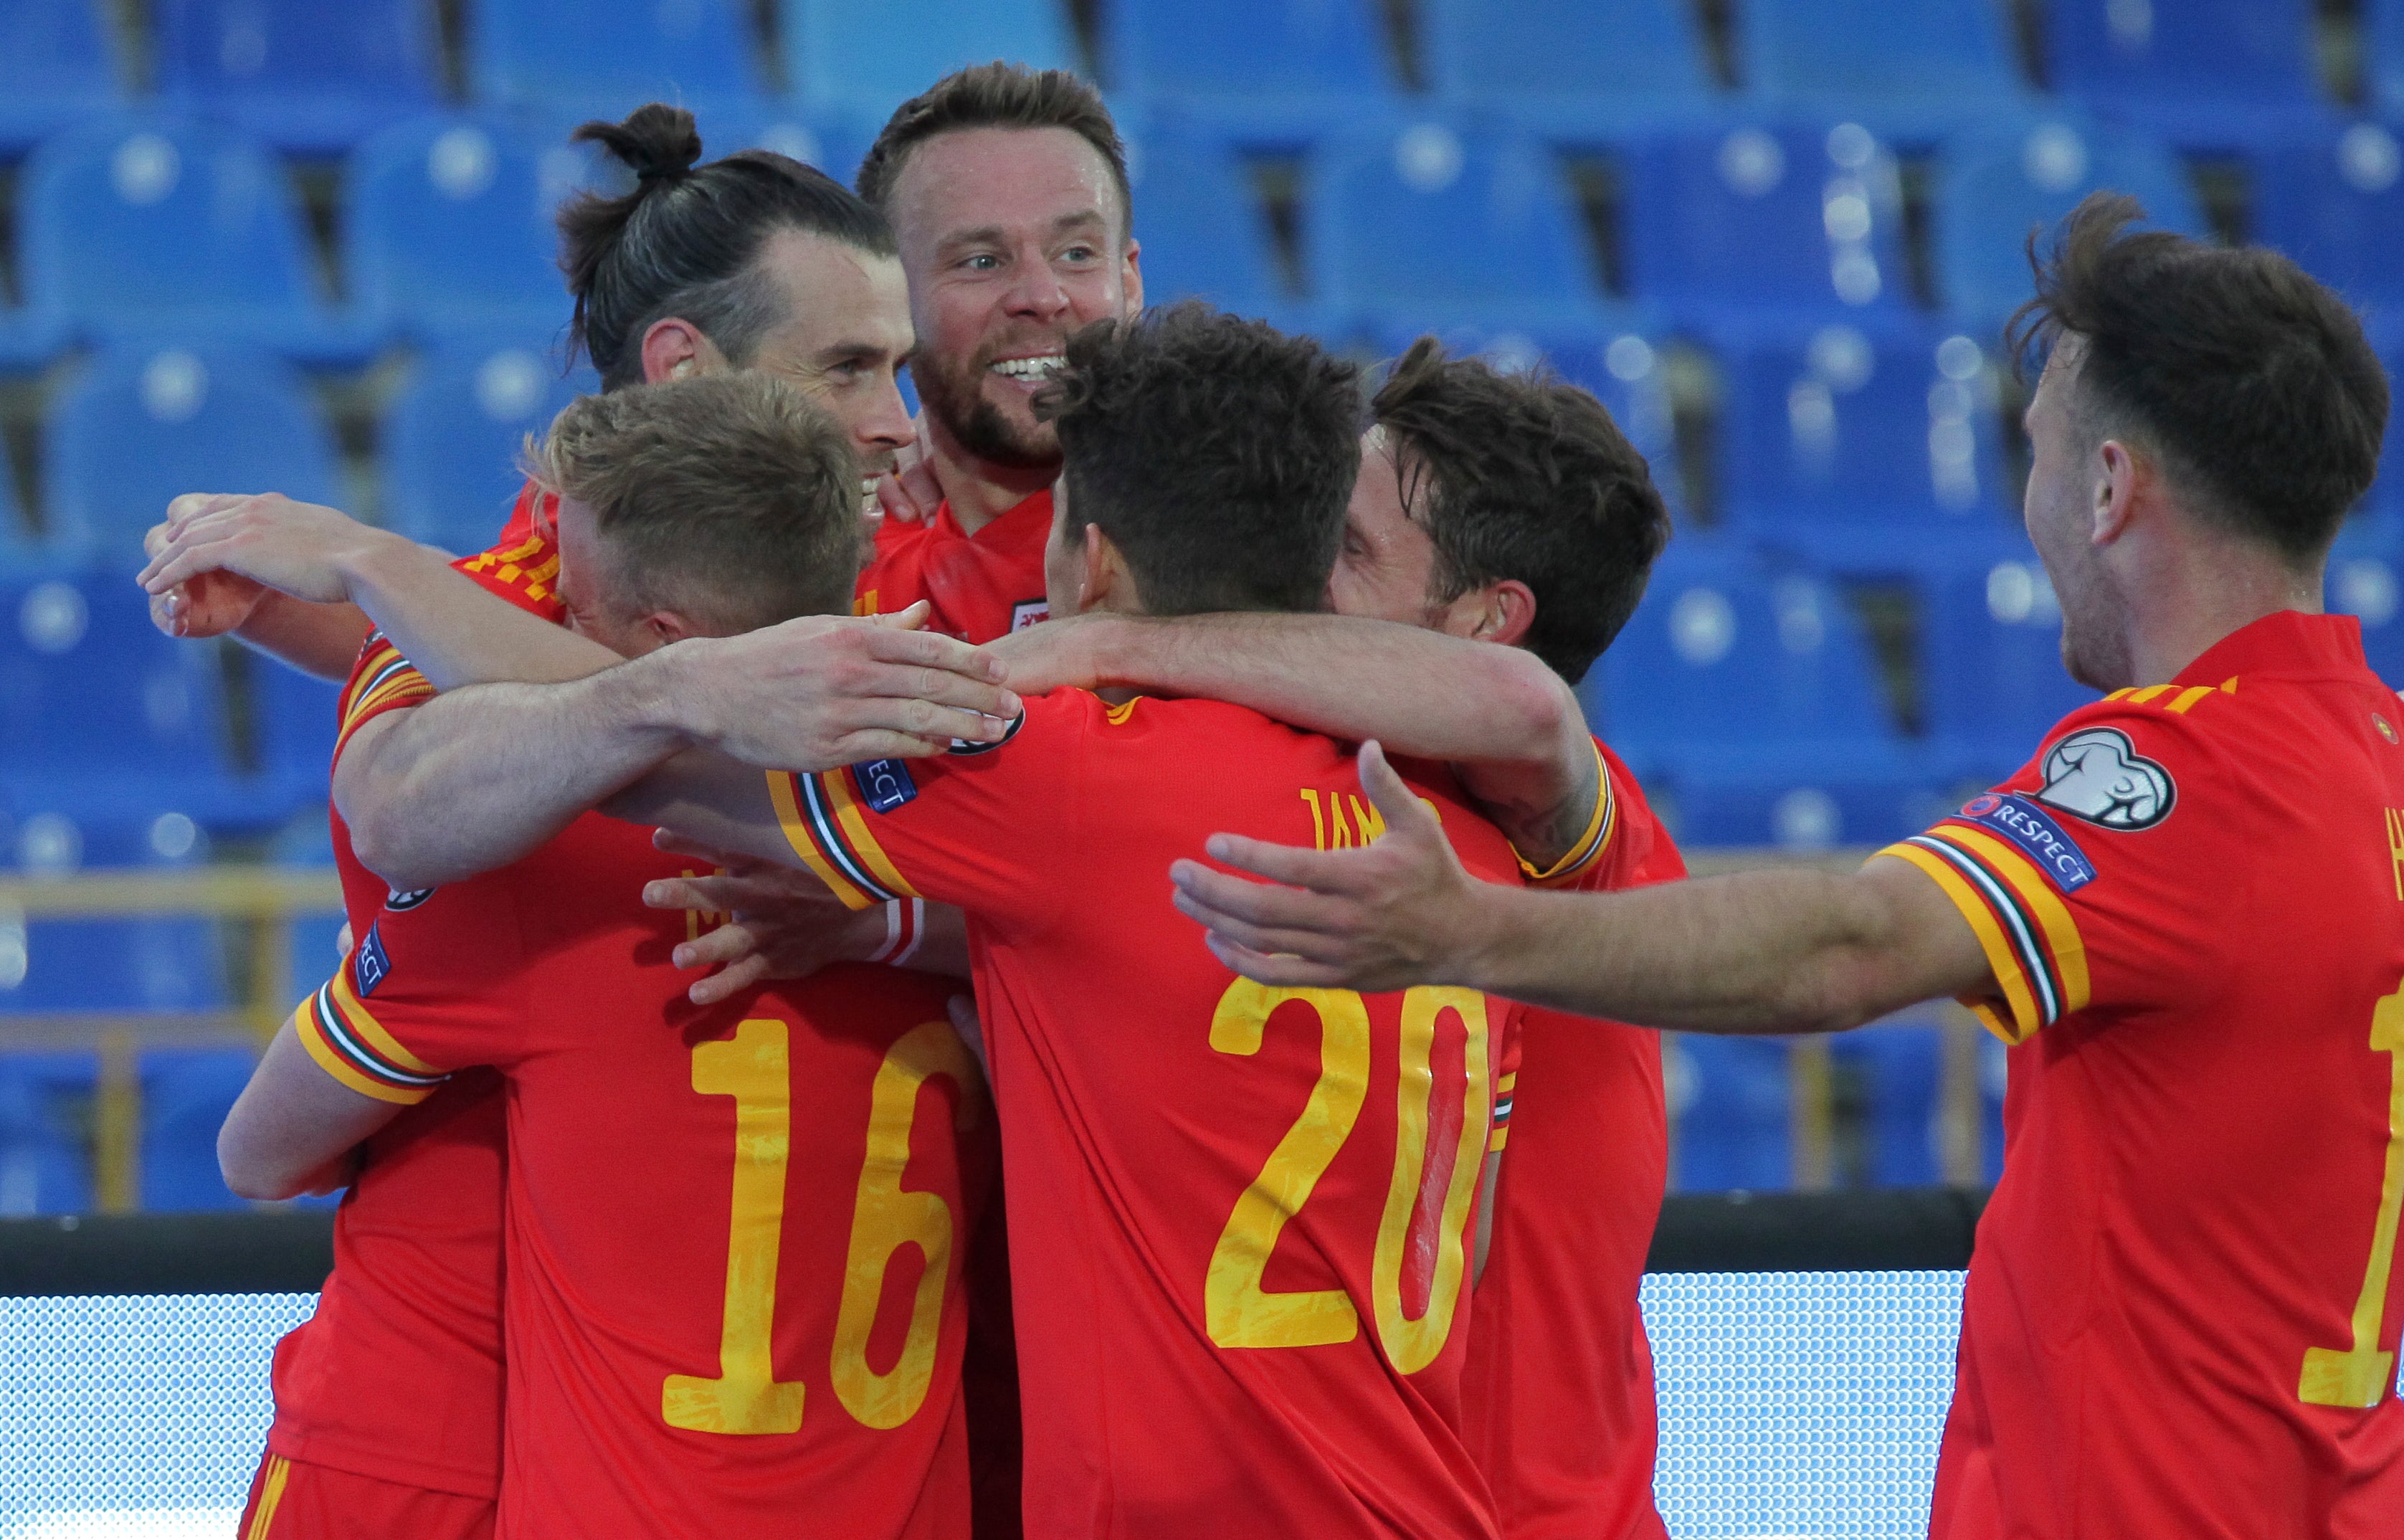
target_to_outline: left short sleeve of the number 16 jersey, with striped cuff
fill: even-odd
[[[401,1105],[433,1096],[454,1069],[507,1064],[526,1045],[524,1011],[512,1004],[524,947],[507,896],[471,879],[406,899],[293,1011],[320,1069]]]

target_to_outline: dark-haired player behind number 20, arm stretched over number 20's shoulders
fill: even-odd
[[[1587,392],[1445,358],[1433,339],[1394,365],[1370,423],[1329,598],[1339,615],[1399,625],[1089,613],[1000,641],[1012,687],[1202,694],[1452,757],[1531,884],[1683,877],[1644,790],[1587,735],[1572,692],[1668,538],[1644,459]],[[1423,632],[1524,651],[1495,649],[1486,678],[1464,678],[1466,658]],[[1659,1538],[1637,1314],[1668,1180],[1659,1033],[1527,1011],[1510,1139],[1466,1384],[1502,1533]]]

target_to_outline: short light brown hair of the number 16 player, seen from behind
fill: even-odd
[[[719,634],[851,613],[858,461],[784,380],[724,370],[579,396],[529,440],[526,473],[594,512],[630,610]]]

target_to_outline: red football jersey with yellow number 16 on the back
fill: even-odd
[[[846,963],[692,1007],[697,918],[639,901],[678,870],[584,814],[380,915],[303,1021],[368,1096],[507,1079],[500,1528],[964,1535],[993,1122],[947,990]]]

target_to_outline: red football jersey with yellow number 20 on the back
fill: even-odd
[[[851,906],[969,911],[1010,1170],[1027,1530],[1493,1535],[1459,1434],[1474,1206],[1517,1007],[1269,990],[1168,901],[1216,829],[1351,846],[1351,750],[1082,690],[990,752],[769,776]],[[1430,786],[1474,872],[1507,843]]]

